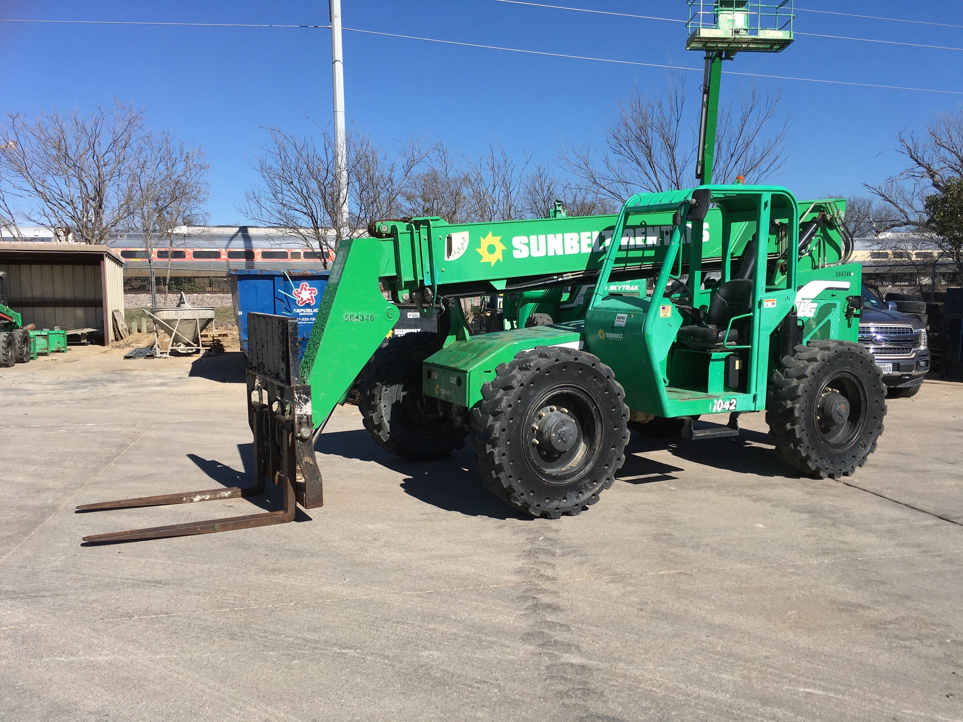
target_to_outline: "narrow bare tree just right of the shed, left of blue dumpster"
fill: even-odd
[[[143,137],[133,159],[131,214],[124,224],[140,232],[147,251],[150,303],[157,305],[153,251],[168,246],[165,297],[170,288],[170,261],[177,238],[175,229],[204,218],[210,168],[200,147],[177,142],[165,131]],[[165,300],[167,302],[167,300]]]

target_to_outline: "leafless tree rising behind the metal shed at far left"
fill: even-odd
[[[2,206],[17,205],[15,215],[60,237],[105,244],[130,214],[131,162],[143,132],[143,111],[120,103],[89,115],[8,114],[0,128]]]

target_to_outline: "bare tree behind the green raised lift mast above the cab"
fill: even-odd
[[[731,183],[742,175],[756,183],[777,175],[788,159],[789,119],[775,125],[781,93],[756,89],[738,106],[730,103],[719,113],[716,134],[716,182]],[[560,162],[578,186],[621,202],[633,193],[686,188],[695,175],[697,128],[685,78],[670,75],[663,93],[646,97],[636,88],[618,104],[618,116],[605,132],[605,149],[563,146]]]

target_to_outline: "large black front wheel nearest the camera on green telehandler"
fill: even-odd
[[[625,460],[629,409],[612,369],[573,348],[522,351],[496,369],[472,410],[485,487],[532,516],[578,514]]]

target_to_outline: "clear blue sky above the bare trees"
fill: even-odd
[[[554,5],[686,17],[684,0],[539,0]],[[701,64],[677,23],[572,13],[495,0],[342,0],[345,26],[619,60]],[[963,26],[959,0],[797,0],[796,31],[963,48],[963,29],[820,13],[902,17]],[[227,23],[327,23],[325,0],[5,0],[5,18]],[[520,55],[345,34],[348,117],[378,142],[440,139],[468,154],[501,141],[521,157],[555,157],[561,142],[597,143],[619,98],[664,87],[664,69]],[[327,30],[0,23],[2,108],[22,112],[144,106],[152,127],[199,143],[211,163],[211,222],[236,210],[255,181],[258,125],[308,132],[331,115]],[[963,52],[799,37],[779,55],[743,53],[726,69],[963,91]],[[690,88],[699,77],[690,74]],[[963,94],[724,77],[723,99],[755,83],[784,90],[792,116],[788,168],[799,196],[860,193],[902,167],[894,134],[951,111]],[[693,121],[695,118],[693,118]]]

